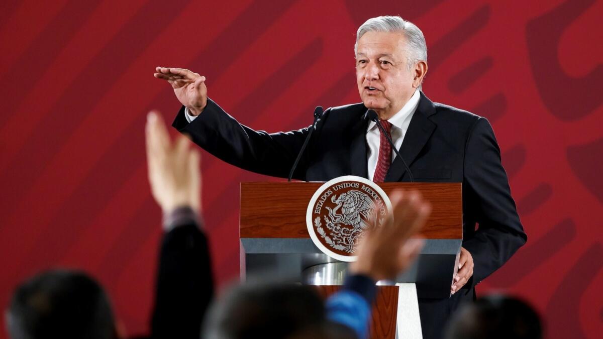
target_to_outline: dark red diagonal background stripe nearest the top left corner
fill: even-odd
[[[172,5],[183,7],[188,0],[175,0]],[[63,93],[53,107],[46,108],[48,114],[37,124],[37,133],[31,135],[27,143],[17,152],[17,157],[2,171],[0,183],[8,191],[9,197],[0,197],[0,209],[12,211],[26,194],[36,176],[46,163],[66,142],[69,135],[86,117],[88,107],[95,106],[113,86],[115,76],[112,70],[122,68],[136,60],[141,52],[162,31],[161,25],[148,22],[169,22],[178,11],[165,11],[163,4],[148,2],[116,34],[76,80]],[[119,119],[116,116],[116,123]],[[24,121],[24,123],[27,123]]]

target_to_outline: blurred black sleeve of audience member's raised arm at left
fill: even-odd
[[[167,232],[157,270],[151,338],[195,338],[213,297],[206,236],[194,222]]]

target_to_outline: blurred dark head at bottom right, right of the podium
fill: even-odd
[[[522,300],[488,296],[470,303],[450,320],[447,339],[540,339],[540,317]]]

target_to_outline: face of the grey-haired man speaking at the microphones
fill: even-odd
[[[358,40],[356,80],[364,106],[391,118],[415,92],[403,33],[368,32]]]

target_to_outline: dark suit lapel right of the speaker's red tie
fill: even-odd
[[[402,158],[406,161],[406,165],[409,167],[417,158],[418,153],[423,149],[429,138],[431,138],[432,133],[434,133],[437,125],[429,119],[429,116],[434,113],[434,103],[421,92],[421,99],[419,100],[417,110],[412,115],[404,141],[399,150],[400,155],[402,155]],[[402,164],[402,160],[396,157],[385,176],[385,181],[397,182],[402,179],[405,173],[406,169]],[[408,176],[406,177],[409,178]]]

